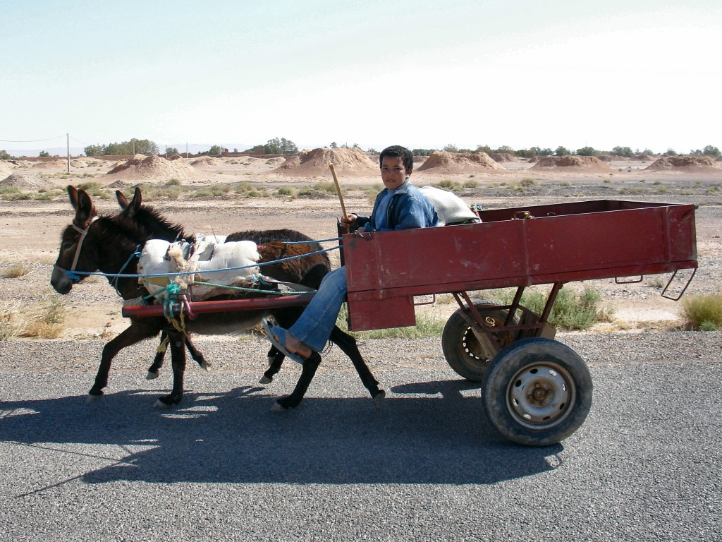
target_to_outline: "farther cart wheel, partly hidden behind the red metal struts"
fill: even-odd
[[[491,327],[503,326],[509,314],[507,309],[497,309],[496,301],[479,301],[474,304],[485,323]],[[489,361],[494,357],[485,343],[479,342],[471,327],[458,309],[449,317],[441,335],[441,348],[451,369],[472,382],[482,382]],[[513,324],[518,324],[515,317]],[[512,343],[514,334],[510,331],[495,333],[501,348]]]

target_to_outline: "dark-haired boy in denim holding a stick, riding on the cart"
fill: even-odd
[[[376,197],[370,217],[349,214],[341,219],[349,231],[406,230],[437,225],[434,207],[409,181],[414,168],[411,151],[400,145],[386,147],[381,151],[379,164],[386,188]],[[323,278],[310,304],[288,330],[264,319],[266,336],[282,353],[300,364],[310,356],[318,356],[336,325],[346,293],[346,269],[339,267]]]

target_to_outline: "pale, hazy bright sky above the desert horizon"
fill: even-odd
[[[132,138],[722,148],[719,0],[0,0],[0,14],[11,154]]]

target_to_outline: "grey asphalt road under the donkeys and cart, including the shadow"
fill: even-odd
[[[169,372],[119,371],[87,404],[92,375],[3,370],[38,350],[2,343],[0,540],[718,541],[712,337],[695,356],[591,364],[590,416],[544,448],[505,442],[478,385],[438,360],[375,370],[382,408],[346,368],[280,414],[297,368],[267,389],[260,371],[193,368],[181,407],[160,411]]]

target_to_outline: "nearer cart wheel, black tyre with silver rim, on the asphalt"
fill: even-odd
[[[555,444],[579,429],[591,408],[586,364],[571,348],[541,337],[500,350],[487,369],[482,400],[506,438],[527,446]]]

